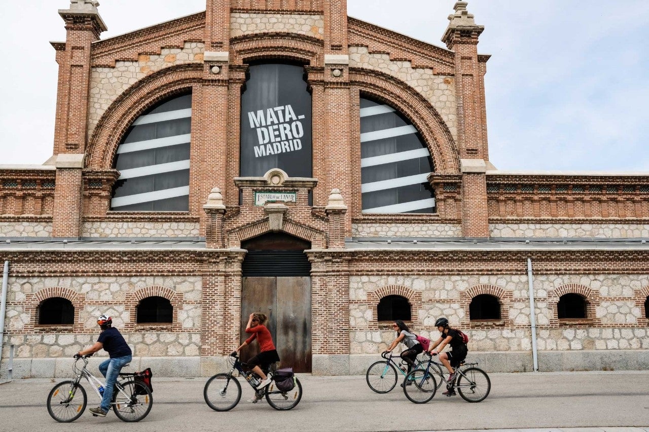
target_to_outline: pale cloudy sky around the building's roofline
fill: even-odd
[[[445,47],[454,0],[347,0],[350,16]],[[108,38],[204,10],[204,0],[101,0]],[[5,3],[0,26],[0,164],[52,154],[57,10]],[[485,26],[491,162],[504,170],[649,171],[649,2],[470,0]]]

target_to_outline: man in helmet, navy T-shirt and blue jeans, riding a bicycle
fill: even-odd
[[[103,361],[99,365],[99,372],[101,372],[104,378],[106,378],[104,394],[101,398],[101,405],[97,408],[90,409],[90,413],[100,417],[105,417],[110,409],[110,401],[113,398],[113,388],[115,387],[117,376],[119,376],[119,371],[124,365],[131,361],[133,353],[124,340],[124,337],[119,333],[119,330],[112,326],[113,320],[110,316],[101,315],[101,317],[97,318],[97,324],[99,325],[99,328],[101,328],[101,333],[99,333],[97,342],[95,342],[95,344],[90,348],[79,351],[77,355],[94,354],[103,348],[110,356],[108,360]]]

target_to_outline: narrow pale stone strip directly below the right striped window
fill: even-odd
[[[460,224],[357,223],[353,237],[461,237]]]

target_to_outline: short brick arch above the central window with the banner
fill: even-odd
[[[323,46],[323,41],[317,38],[286,32],[245,34],[230,40],[234,52],[232,62],[239,65],[265,58],[284,58],[316,66],[321,64]]]

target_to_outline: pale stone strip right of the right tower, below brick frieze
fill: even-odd
[[[491,237],[649,237],[648,224],[489,224]]]

